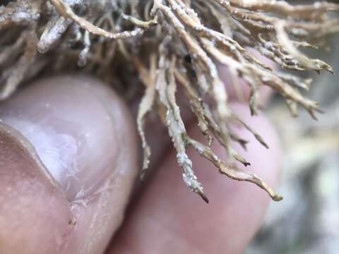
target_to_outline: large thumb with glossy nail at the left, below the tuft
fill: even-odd
[[[124,104],[63,76],[1,102],[0,119],[0,253],[102,253],[137,172]]]

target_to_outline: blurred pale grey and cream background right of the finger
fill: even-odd
[[[300,108],[297,119],[285,102],[273,98],[266,111],[278,129],[284,150],[278,193],[266,221],[246,254],[339,253],[339,36],[330,49],[313,54],[331,63],[337,75],[304,73],[314,83],[307,97],[320,102],[326,114],[314,121]],[[312,52],[314,53],[314,52]]]

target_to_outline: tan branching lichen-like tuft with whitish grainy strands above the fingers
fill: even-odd
[[[184,183],[191,191],[208,201],[186,154],[190,146],[222,174],[255,183],[273,200],[281,200],[258,176],[235,166],[236,161],[245,166],[250,162],[232,146],[235,141],[246,149],[247,143],[232,131],[232,123],[246,128],[264,147],[268,144],[230,108],[217,65],[227,66],[240,99],[244,98],[236,78],[249,85],[252,115],[261,109],[258,91],[266,85],[285,98],[292,115],[297,116],[301,105],[315,119],[316,112],[321,112],[319,105],[299,92],[309,90],[311,79],[289,71],[333,73],[327,63],[302,52],[303,48],[318,49],[327,35],[339,31],[339,19],[329,15],[331,11],[339,11],[339,5],[268,0],[9,1],[0,6],[0,97],[11,96],[23,80],[40,71],[50,74],[80,68],[112,83],[126,99],[136,97],[133,93],[143,83],[136,119],[144,151],[142,177],[151,152],[143,128],[153,111],[168,129]],[[261,62],[249,47],[283,71]],[[177,85],[207,145],[186,133]],[[225,147],[225,162],[211,150],[214,140]]]

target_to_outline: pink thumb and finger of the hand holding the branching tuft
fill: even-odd
[[[248,152],[234,147],[275,187],[281,152],[273,126],[263,114],[249,116],[244,104],[232,107],[270,150],[243,128],[235,129],[251,141]],[[242,253],[270,203],[258,187],[221,176],[189,150],[210,198],[204,203],[184,186],[159,124],[146,127],[155,152],[147,181],[136,188],[141,150],[133,112],[94,78],[37,80],[0,109],[0,253]],[[194,119],[185,121],[203,141]],[[220,145],[213,149],[222,157]]]

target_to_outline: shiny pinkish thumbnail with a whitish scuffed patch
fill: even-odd
[[[0,119],[32,144],[70,201],[90,197],[114,174],[129,124],[112,89],[72,76],[32,83],[1,102]]]

